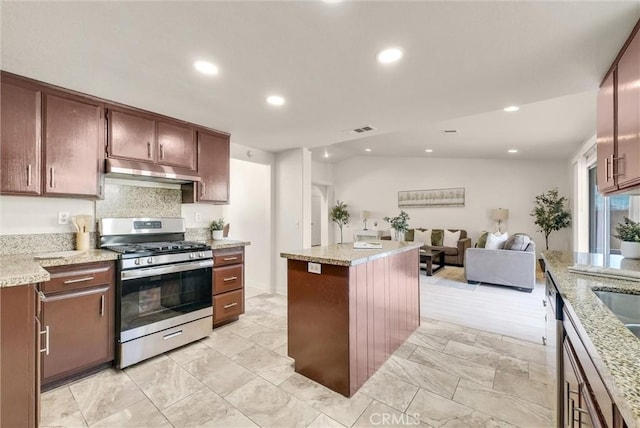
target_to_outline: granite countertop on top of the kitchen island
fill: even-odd
[[[379,241],[376,241],[379,242]],[[333,244],[324,247],[311,247],[280,253],[280,257],[305,262],[315,262],[327,265],[355,266],[371,260],[387,257],[392,254],[422,247],[422,242],[380,241],[382,248],[356,249],[352,243]]]

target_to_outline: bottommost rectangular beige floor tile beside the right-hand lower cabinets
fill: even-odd
[[[551,410],[515,395],[461,379],[453,400],[522,427],[549,427]]]

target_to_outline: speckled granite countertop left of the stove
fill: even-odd
[[[53,258],[36,259],[36,256]],[[0,288],[48,281],[44,268],[79,263],[117,260],[118,253],[109,250],[59,251],[56,253],[0,256]]]

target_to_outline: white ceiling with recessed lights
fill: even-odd
[[[1,8],[3,70],[227,131],[239,144],[327,150],[329,161],[364,148],[566,159],[595,133],[597,88],[640,18],[638,0]],[[375,55],[388,46],[404,57],[381,66]],[[196,59],[220,74],[200,75]],[[271,93],[286,105],[268,106]],[[520,111],[502,111],[512,104]],[[349,132],[363,125],[376,130]]]

